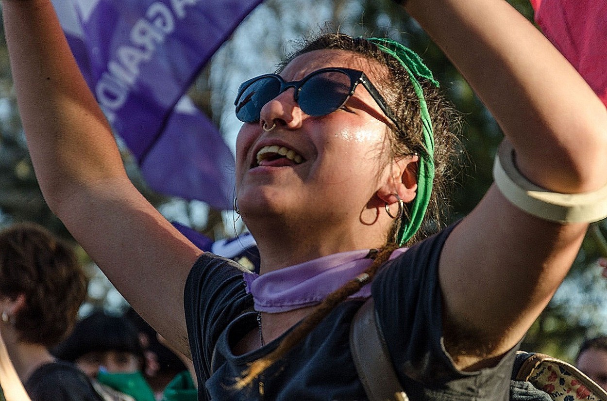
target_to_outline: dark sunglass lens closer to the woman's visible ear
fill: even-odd
[[[325,116],[341,107],[350,95],[350,77],[340,71],[311,76],[299,91],[299,107],[310,116]]]

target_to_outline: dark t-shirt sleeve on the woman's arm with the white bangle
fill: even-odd
[[[407,375],[420,382],[458,374],[443,352],[438,279],[441,251],[453,227],[388,261],[373,280],[376,316],[393,362],[407,366]],[[431,371],[420,373],[411,366],[428,366]]]

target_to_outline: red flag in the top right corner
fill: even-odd
[[[544,35],[607,105],[607,0],[531,0]]]

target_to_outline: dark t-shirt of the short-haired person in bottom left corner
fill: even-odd
[[[68,362],[40,366],[24,387],[32,401],[103,401],[89,377]]]

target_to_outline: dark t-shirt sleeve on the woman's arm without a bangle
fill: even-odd
[[[253,306],[243,270],[230,259],[204,253],[194,263],[183,297],[192,361],[199,385],[211,374],[215,342],[226,326]]]

